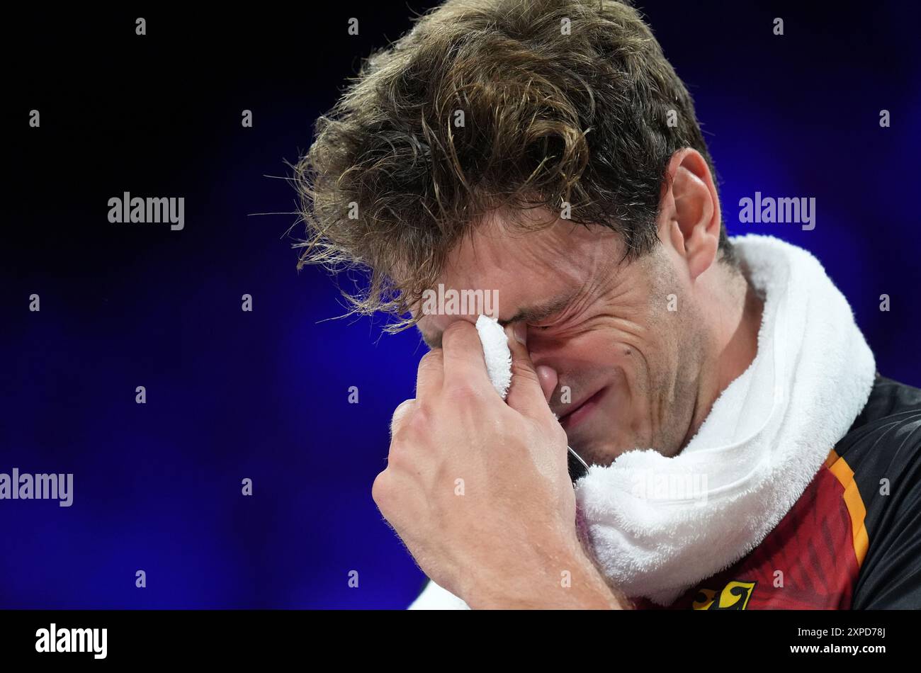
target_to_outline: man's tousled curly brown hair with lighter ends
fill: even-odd
[[[533,228],[514,215],[555,220],[569,204],[635,259],[658,242],[671,155],[693,147],[716,175],[659,42],[610,0],[449,0],[373,53],[315,131],[294,167],[308,231],[297,268],[369,270],[364,290],[340,288],[346,315],[410,311],[499,210]],[[719,247],[733,262],[725,225]]]

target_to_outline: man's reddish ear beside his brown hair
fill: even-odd
[[[717,260],[721,224],[717,187],[697,150],[686,147],[671,156],[659,212],[665,217],[664,236],[694,280]]]

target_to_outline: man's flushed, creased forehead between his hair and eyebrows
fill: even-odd
[[[547,221],[546,215],[542,217]],[[510,226],[502,215],[492,215],[451,251],[437,281],[445,297],[454,290],[457,294],[467,291],[472,299],[470,293],[482,291],[484,302],[461,301],[454,307],[460,310],[443,313],[429,313],[420,307],[418,312],[424,315],[418,329],[428,345],[436,347],[441,332],[457,319],[475,322],[477,315],[488,312],[505,323],[542,319],[522,314],[523,309],[565,310],[565,305],[589,288],[599,273],[610,268],[612,260],[619,259],[618,246],[619,237],[600,226],[556,219],[539,230],[524,231]],[[484,309],[489,299],[491,306]],[[448,307],[447,302],[444,307]]]

